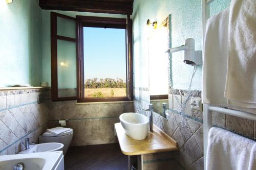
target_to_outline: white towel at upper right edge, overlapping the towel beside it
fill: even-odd
[[[233,106],[256,108],[256,1],[232,0],[224,96]]]

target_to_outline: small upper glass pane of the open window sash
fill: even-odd
[[[76,38],[76,21],[57,17],[57,35]]]

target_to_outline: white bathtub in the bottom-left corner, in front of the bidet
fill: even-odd
[[[17,163],[23,163],[24,169],[64,169],[62,151],[0,156],[0,169],[12,170]]]

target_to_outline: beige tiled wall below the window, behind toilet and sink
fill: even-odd
[[[74,131],[72,146],[117,142],[114,124],[119,115],[134,112],[133,102],[77,104],[76,101],[48,102],[49,127],[58,126],[58,119],[69,119],[67,127]]]

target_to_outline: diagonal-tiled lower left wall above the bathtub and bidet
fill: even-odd
[[[25,138],[37,142],[48,127],[49,110],[44,101],[48,89],[0,91],[0,155],[16,154]]]

